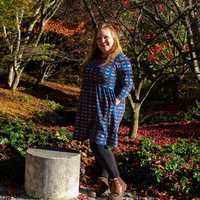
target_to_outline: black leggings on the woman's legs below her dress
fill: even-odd
[[[92,152],[95,154],[98,177],[118,178],[119,171],[113,153],[105,145],[90,143]]]

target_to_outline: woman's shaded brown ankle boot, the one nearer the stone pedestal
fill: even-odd
[[[108,179],[99,177],[97,187],[94,190],[86,192],[86,194],[88,197],[100,197],[102,194],[107,194],[108,192],[110,192]]]

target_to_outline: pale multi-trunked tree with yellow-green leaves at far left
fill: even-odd
[[[62,0],[2,0],[1,28],[9,49],[7,87],[15,90],[21,74],[33,56],[45,24],[59,8]],[[35,31],[38,27],[38,31]]]

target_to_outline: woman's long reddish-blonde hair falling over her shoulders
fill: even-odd
[[[97,34],[98,34],[99,30],[101,30],[101,29],[107,29],[111,33],[111,36],[113,37],[113,40],[114,40],[114,44],[109,52],[107,59],[105,60],[105,63],[109,63],[117,56],[117,54],[119,52],[122,52],[122,47],[120,45],[119,38],[117,36],[117,32],[115,31],[113,26],[110,24],[106,24],[106,23],[102,24],[101,26],[99,26],[98,30],[95,31],[91,51],[89,53],[89,56],[88,56],[86,62],[83,64],[83,67],[86,66],[87,64],[89,64],[90,62],[101,58],[100,55],[102,52],[99,49],[99,47],[97,46]]]

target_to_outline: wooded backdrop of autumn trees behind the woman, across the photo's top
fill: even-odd
[[[64,77],[79,87],[79,68],[93,33],[100,23],[111,23],[133,67],[129,135],[136,137],[145,100],[160,101],[168,95],[179,101],[199,91],[199,3],[1,0],[0,73],[7,76],[5,87],[15,90],[23,73],[35,76],[35,84]]]

